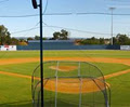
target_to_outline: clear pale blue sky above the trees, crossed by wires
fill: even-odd
[[[39,2],[39,0],[37,1]],[[46,4],[47,0],[43,0],[43,12]],[[130,14],[129,0],[48,0],[44,14],[72,14],[43,15],[43,23],[46,23],[46,25],[43,24],[43,37],[52,37],[54,31],[66,29],[70,38],[110,38],[112,15],[77,15],[77,13],[110,14],[109,8],[116,8],[113,11],[114,14]],[[38,15],[31,17],[8,17],[34,14],[39,14],[39,10],[32,9],[31,0],[0,0],[0,25],[4,25],[12,37],[39,36]],[[130,15],[114,15],[113,24],[114,36],[117,34],[130,35]],[[36,29],[29,30],[31,28]]]

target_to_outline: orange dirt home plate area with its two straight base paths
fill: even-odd
[[[106,75],[104,76],[104,78],[109,79],[109,78],[121,76],[121,75],[129,73],[129,72],[130,72],[130,69]],[[13,72],[6,72],[6,71],[0,71],[0,73],[5,75],[5,76],[16,77],[16,78],[31,79],[31,76],[25,76],[25,75],[20,75],[20,73],[13,73]],[[40,78],[35,78],[35,80],[40,80]],[[94,83],[94,81],[96,82],[96,84]],[[91,79],[82,79],[82,80],[58,79],[57,80],[57,92],[77,94],[80,91],[82,93],[90,93],[90,92],[98,92],[98,91],[104,90],[105,88],[104,83],[101,82],[100,78],[94,79],[94,81]],[[55,79],[44,80],[44,83],[46,83],[44,84],[46,90],[55,91],[55,85],[56,85]]]

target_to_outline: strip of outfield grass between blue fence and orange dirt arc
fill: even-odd
[[[46,57],[117,57],[130,58],[130,51],[44,51]],[[39,51],[0,52],[0,58],[39,57]]]

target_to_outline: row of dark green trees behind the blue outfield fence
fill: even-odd
[[[40,36],[35,36],[35,38],[16,39],[11,37],[10,31],[3,25],[0,25],[0,45],[27,45],[28,40],[40,40]],[[43,40],[69,40],[69,32],[65,29],[61,31],[53,32],[52,38],[43,38]],[[87,39],[76,39],[75,44],[86,45],[86,44],[110,44],[112,38],[87,38]],[[113,44],[118,45],[130,45],[130,38],[127,35],[118,34],[113,37]]]

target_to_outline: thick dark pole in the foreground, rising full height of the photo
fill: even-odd
[[[34,9],[37,9],[39,6],[40,11],[40,81],[41,81],[41,107],[43,107],[42,0],[39,0],[39,4],[37,4],[36,0],[31,1]]]

